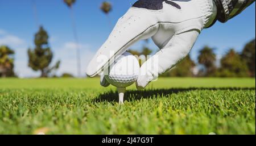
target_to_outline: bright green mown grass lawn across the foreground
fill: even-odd
[[[255,78],[160,78],[125,100],[99,78],[0,79],[0,134],[255,134]]]

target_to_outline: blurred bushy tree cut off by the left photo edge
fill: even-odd
[[[9,47],[2,45],[0,46],[0,76],[13,76],[13,67],[14,67],[14,51]]]

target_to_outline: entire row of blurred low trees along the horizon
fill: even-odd
[[[43,27],[39,28],[34,37],[35,47],[29,48],[28,66],[35,71],[40,71],[40,77],[55,77],[51,73],[57,70],[60,61],[50,66],[53,52],[48,45],[49,36]],[[153,52],[146,45],[141,51],[129,50],[137,56],[151,55]],[[6,45],[0,46],[0,77],[15,77],[14,73],[14,50]],[[146,57],[139,59],[142,64]],[[217,64],[217,61],[219,63]],[[236,52],[233,48],[229,49],[220,60],[217,60],[214,49],[208,46],[199,51],[197,63],[188,55],[170,71],[162,74],[162,77],[255,77],[255,39],[246,43],[242,52]],[[73,77],[72,74],[63,73],[61,77]]]

